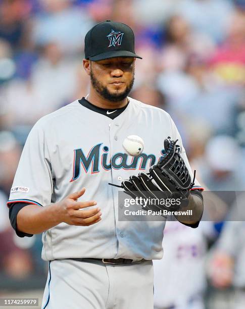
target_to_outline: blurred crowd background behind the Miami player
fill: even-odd
[[[2,296],[44,289],[41,235],[17,237],[6,201],[33,124],[88,93],[84,36],[107,19],[134,30],[143,58],[130,96],[170,113],[207,190],[245,198],[245,0],[0,0]],[[244,223],[222,196],[196,230],[167,223],[156,308],[245,307]]]

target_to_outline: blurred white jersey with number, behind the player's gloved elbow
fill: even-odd
[[[179,222],[167,222],[164,230],[164,255],[154,261],[154,303],[157,308],[174,305],[178,309],[203,308],[206,288],[205,255],[207,237],[212,237],[211,222],[197,229]],[[197,304],[199,303],[199,304]]]

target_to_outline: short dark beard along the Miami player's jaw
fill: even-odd
[[[111,93],[106,86],[104,86],[99,80],[96,79],[96,77],[93,75],[93,71],[91,69],[90,71],[90,80],[92,83],[93,88],[99,93],[102,97],[105,99],[112,101],[112,102],[119,102],[125,99],[129,92],[131,91],[134,83],[134,71],[133,71],[133,77],[127,85],[126,89],[123,92],[120,93]]]

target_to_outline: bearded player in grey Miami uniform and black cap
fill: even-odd
[[[193,174],[170,116],[128,96],[135,58],[141,59],[131,28],[112,21],[95,25],[85,36],[89,94],[41,118],[26,140],[8,206],[20,237],[43,232],[49,271],[42,309],[153,308],[152,260],[163,256],[166,219],[118,220],[120,189],[108,183],[147,173],[168,136],[178,139]],[[144,139],[138,157],[122,147],[133,134]],[[197,180],[191,187],[185,208],[195,219],[176,218],[197,227],[202,188]]]

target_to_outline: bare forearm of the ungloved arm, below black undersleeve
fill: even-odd
[[[56,203],[45,207],[26,205],[19,211],[16,220],[17,229],[28,234],[42,233],[61,222]]]

